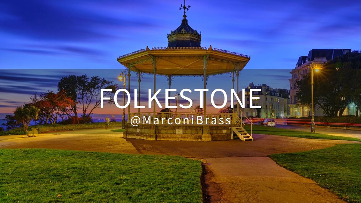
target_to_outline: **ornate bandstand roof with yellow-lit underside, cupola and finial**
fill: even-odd
[[[153,47],[119,56],[132,71],[159,75],[217,75],[242,70],[250,56],[219,48],[201,47],[201,34],[188,25],[186,7],[181,25],[168,34],[168,47]]]

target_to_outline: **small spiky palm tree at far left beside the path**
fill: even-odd
[[[24,130],[27,132],[30,121],[37,118],[38,112],[39,109],[34,106],[19,106],[14,111],[14,118],[17,122],[23,124]]]

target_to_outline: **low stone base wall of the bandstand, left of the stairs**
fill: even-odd
[[[218,141],[231,139],[229,125],[125,125],[124,138],[166,141]]]

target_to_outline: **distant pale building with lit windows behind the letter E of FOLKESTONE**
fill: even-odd
[[[258,96],[260,99],[253,100],[252,104],[261,106],[262,108],[249,108],[249,90],[261,89],[261,91],[254,91],[253,96]],[[247,117],[260,117],[260,118],[284,118],[288,115],[287,103],[290,101],[290,91],[286,89],[273,89],[269,85],[254,85],[253,82],[249,83],[245,91],[245,108],[242,112]],[[242,96],[242,91],[239,93]],[[285,111],[286,110],[286,111]],[[258,115],[259,114],[259,115]]]

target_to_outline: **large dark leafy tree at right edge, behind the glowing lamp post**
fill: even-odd
[[[314,74],[314,103],[321,107],[327,116],[341,116],[351,102],[356,106],[360,104],[360,69],[361,52],[353,51],[326,62],[321,71]],[[310,83],[310,74],[296,82],[296,96],[302,104],[311,103]]]

